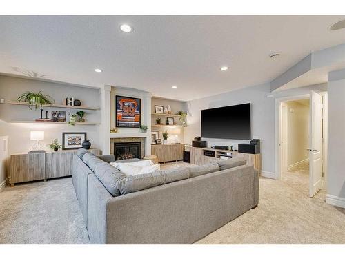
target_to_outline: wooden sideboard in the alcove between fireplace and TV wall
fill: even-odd
[[[183,160],[184,144],[152,144],[151,155],[157,155],[159,163]]]

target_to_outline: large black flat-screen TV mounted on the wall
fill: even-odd
[[[201,137],[250,140],[250,104],[202,110]]]

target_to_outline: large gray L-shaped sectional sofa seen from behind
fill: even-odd
[[[94,244],[192,244],[258,204],[258,172],[239,160],[129,176],[109,162],[83,149],[73,157]]]

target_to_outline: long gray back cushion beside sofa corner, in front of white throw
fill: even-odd
[[[187,178],[189,178],[189,171],[186,168],[156,171],[142,175],[128,175],[128,177],[119,182],[119,188],[121,194],[134,193],[135,191],[141,191]]]

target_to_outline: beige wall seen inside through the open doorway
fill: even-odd
[[[288,166],[293,166],[308,158],[309,105],[294,101],[286,104],[288,105]]]

